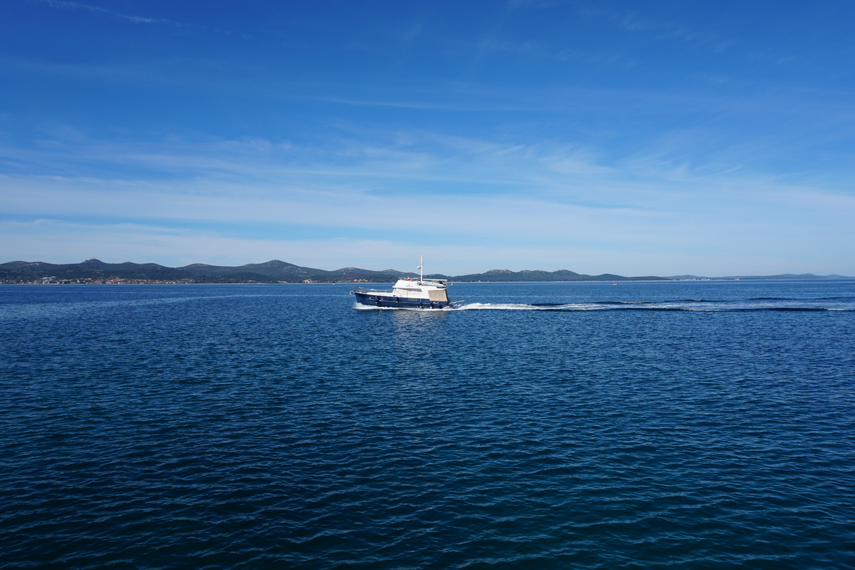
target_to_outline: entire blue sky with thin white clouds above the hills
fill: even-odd
[[[6,0],[0,262],[855,275],[855,3]]]

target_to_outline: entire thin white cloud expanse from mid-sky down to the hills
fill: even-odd
[[[55,221],[9,231],[0,253],[50,261],[66,251],[66,261],[82,261],[105,256],[100,244],[120,261],[166,265],[279,257],[386,268],[430,250],[443,273],[758,273],[749,259],[765,260],[769,273],[855,273],[855,197],[836,187],[675,162],[667,145],[609,162],[579,144],[360,134],[322,151],[262,138],[106,144],[76,135],[6,149],[56,172],[0,178],[8,223]],[[74,229],[76,220],[89,229]],[[294,238],[304,233],[324,238]]]

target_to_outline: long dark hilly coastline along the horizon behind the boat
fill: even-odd
[[[239,267],[192,263],[185,267],[165,267],[156,263],[105,263],[88,259],[81,263],[55,264],[44,261],[9,261],[0,264],[0,284],[153,284],[153,283],[389,283],[400,278],[417,278],[417,273],[395,269],[373,271],[359,267],[342,267],[334,271],[300,267],[286,261],[248,263]],[[700,277],[673,275],[657,277],[623,277],[612,273],[586,275],[567,269],[558,271],[510,271],[492,269],[468,275],[425,275],[430,279],[448,279],[458,283],[524,282],[524,281],[673,281],[704,279],[847,279],[843,275],[785,273],[781,275],[729,275]]]

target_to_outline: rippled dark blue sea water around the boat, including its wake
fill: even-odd
[[[855,567],[855,281],[347,293],[0,287],[0,567]]]

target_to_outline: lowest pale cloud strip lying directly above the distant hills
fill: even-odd
[[[718,250],[663,251],[644,244],[611,247],[606,236],[594,234],[577,244],[430,244],[407,239],[247,239],[227,233],[175,230],[139,224],[72,224],[57,220],[0,222],[0,255],[9,261],[79,262],[154,261],[180,267],[203,261],[220,265],[280,259],[307,267],[363,267],[410,270],[418,256],[426,257],[430,273],[477,273],[493,268],[570,269],[578,273],[624,275],[847,273],[835,266],[833,255],[810,254],[793,259],[790,250],[757,250],[723,243]],[[15,252],[10,256],[9,252]],[[805,252],[797,252],[799,256]],[[526,261],[520,261],[526,260]],[[831,267],[837,267],[836,270]],[[852,274],[852,266],[848,267]]]

